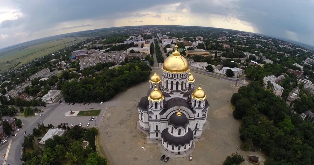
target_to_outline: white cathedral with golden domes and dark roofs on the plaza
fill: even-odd
[[[177,49],[163,63],[161,78],[156,71],[151,76],[147,96],[138,102],[138,118],[139,127],[149,132],[147,139],[160,141],[169,153],[183,154],[194,138],[201,138],[209,104]]]

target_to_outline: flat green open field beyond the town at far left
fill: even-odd
[[[44,57],[48,54],[56,52],[75,43],[81,42],[88,37],[66,37],[45,41],[30,45],[29,47],[20,47],[15,50],[10,50],[0,53],[0,72],[5,72],[10,67],[21,62],[17,67],[29,63],[36,58]],[[7,63],[9,61],[9,63]]]

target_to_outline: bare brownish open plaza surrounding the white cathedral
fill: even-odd
[[[154,73],[154,72],[152,72]],[[161,75],[161,70],[157,70]],[[193,160],[188,156],[170,158],[170,164],[211,164],[220,165],[233,152],[238,152],[245,159],[249,155],[262,158],[259,153],[241,151],[239,138],[240,121],[232,116],[233,106],[230,98],[237,89],[231,87],[230,81],[217,79],[208,75],[192,72],[196,85],[202,84],[210,104],[203,141],[196,141],[192,152]],[[157,144],[146,144],[146,135],[136,129],[138,121],[137,103],[149,89],[149,82],[133,86],[109,101],[120,102],[119,106],[108,107],[100,125],[100,135],[106,155],[114,165],[120,164],[163,164],[163,155]],[[145,149],[142,149],[142,147]],[[243,164],[249,164],[245,161]]]

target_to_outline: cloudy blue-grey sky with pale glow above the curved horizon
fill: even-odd
[[[314,0],[0,0],[0,48],[82,30],[192,25],[314,45]]]

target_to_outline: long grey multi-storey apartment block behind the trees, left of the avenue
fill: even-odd
[[[83,70],[88,67],[93,67],[97,63],[113,62],[119,64],[122,61],[124,61],[124,51],[112,51],[81,58],[79,59],[79,66],[80,69]]]

